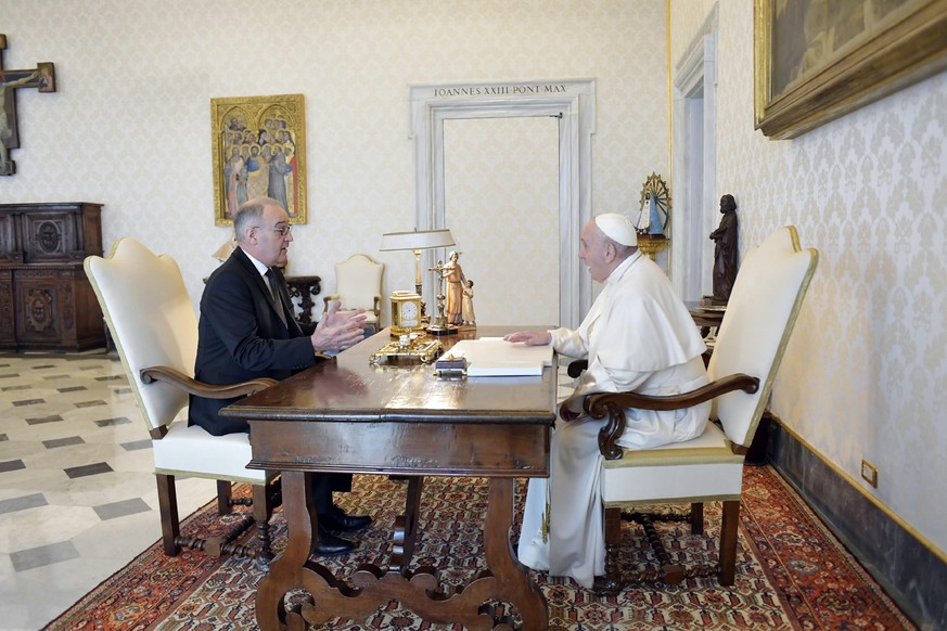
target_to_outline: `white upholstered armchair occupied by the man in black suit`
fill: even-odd
[[[188,408],[189,394],[231,398],[276,382],[209,386],[193,379],[197,318],[181,271],[169,256],[155,256],[138,241],[121,239],[107,259],[86,258],[85,269],[152,437],[165,554],[174,556],[188,546],[215,556],[268,561],[272,556],[268,521],[279,494],[272,485],[277,474],[246,468],[248,435],[212,436],[196,425],[189,427],[181,412]],[[216,479],[221,515],[238,503],[230,495],[231,482],[253,485],[253,518],[239,520],[220,537],[181,537],[175,494],[179,475]],[[254,523],[258,545],[241,544],[238,538]]]

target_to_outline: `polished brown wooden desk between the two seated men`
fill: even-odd
[[[441,338],[498,336],[516,329],[485,327]],[[369,355],[389,342],[388,330],[222,412],[247,418],[253,468],[282,472],[285,551],[270,566],[256,598],[265,631],[303,629],[334,616],[361,622],[395,598],[425,620],[488,629],[497,621],[481,605],[512,604],[525,629],[547,628],[547,604],[513,555],[509,531],[513,489],[521,477],[548,477],[555,423],[556,371],[541,377],[438,379],[431,364],[372,365]],[[337,581],[309,561],[317,537],[308,472],[410,476],[405,514],[394,525],[387,567],[363,564]],[[462,590],[440,593],[431,570],[409,569],[423,476],[489,478],[484,524],[487,566]],[[358,552],[355,553],[358,555]],[[283,610],[291,590],[316,605]]]

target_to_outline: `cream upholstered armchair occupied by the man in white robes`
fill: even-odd
[[[602,506],[605,512],[605,576],[596,578],[600,594],[614,594],[627,582],[616,559],[622,520],[644,526],[661,559],[660,580],[675,584],[688,570],[675,563],[642,508],[690,504],[693,533],[703,532],[703,503],[724,504],[719,580],[733,584],[743,461],[769,399],[783,351],[818,263],[818,252],[801,249],[793,227],[770,234],[747,253],[740,268],[707,372],[711,384],[674,397],[635,392],[590,394],[583,405],[609,422],[599,434],[603,458]],[[626,408],[677,410],[713,399],[703,435],[653,449],[623,450],[616,445]]]

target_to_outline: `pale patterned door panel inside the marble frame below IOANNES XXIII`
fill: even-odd
[[[559,118],[444,121],[445,226],[479,324],[560,320]]]

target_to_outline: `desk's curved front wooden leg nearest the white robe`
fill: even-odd
[[[487,567],[496,583],[494,595],[512,603],[523,616],[524,629],[547,629],[549,613],[546,596],[529,578],[529,570],[516,559],[510,543],[513,524],[514,478],[490,478],[487,517],[484,524],[484,546]]]

